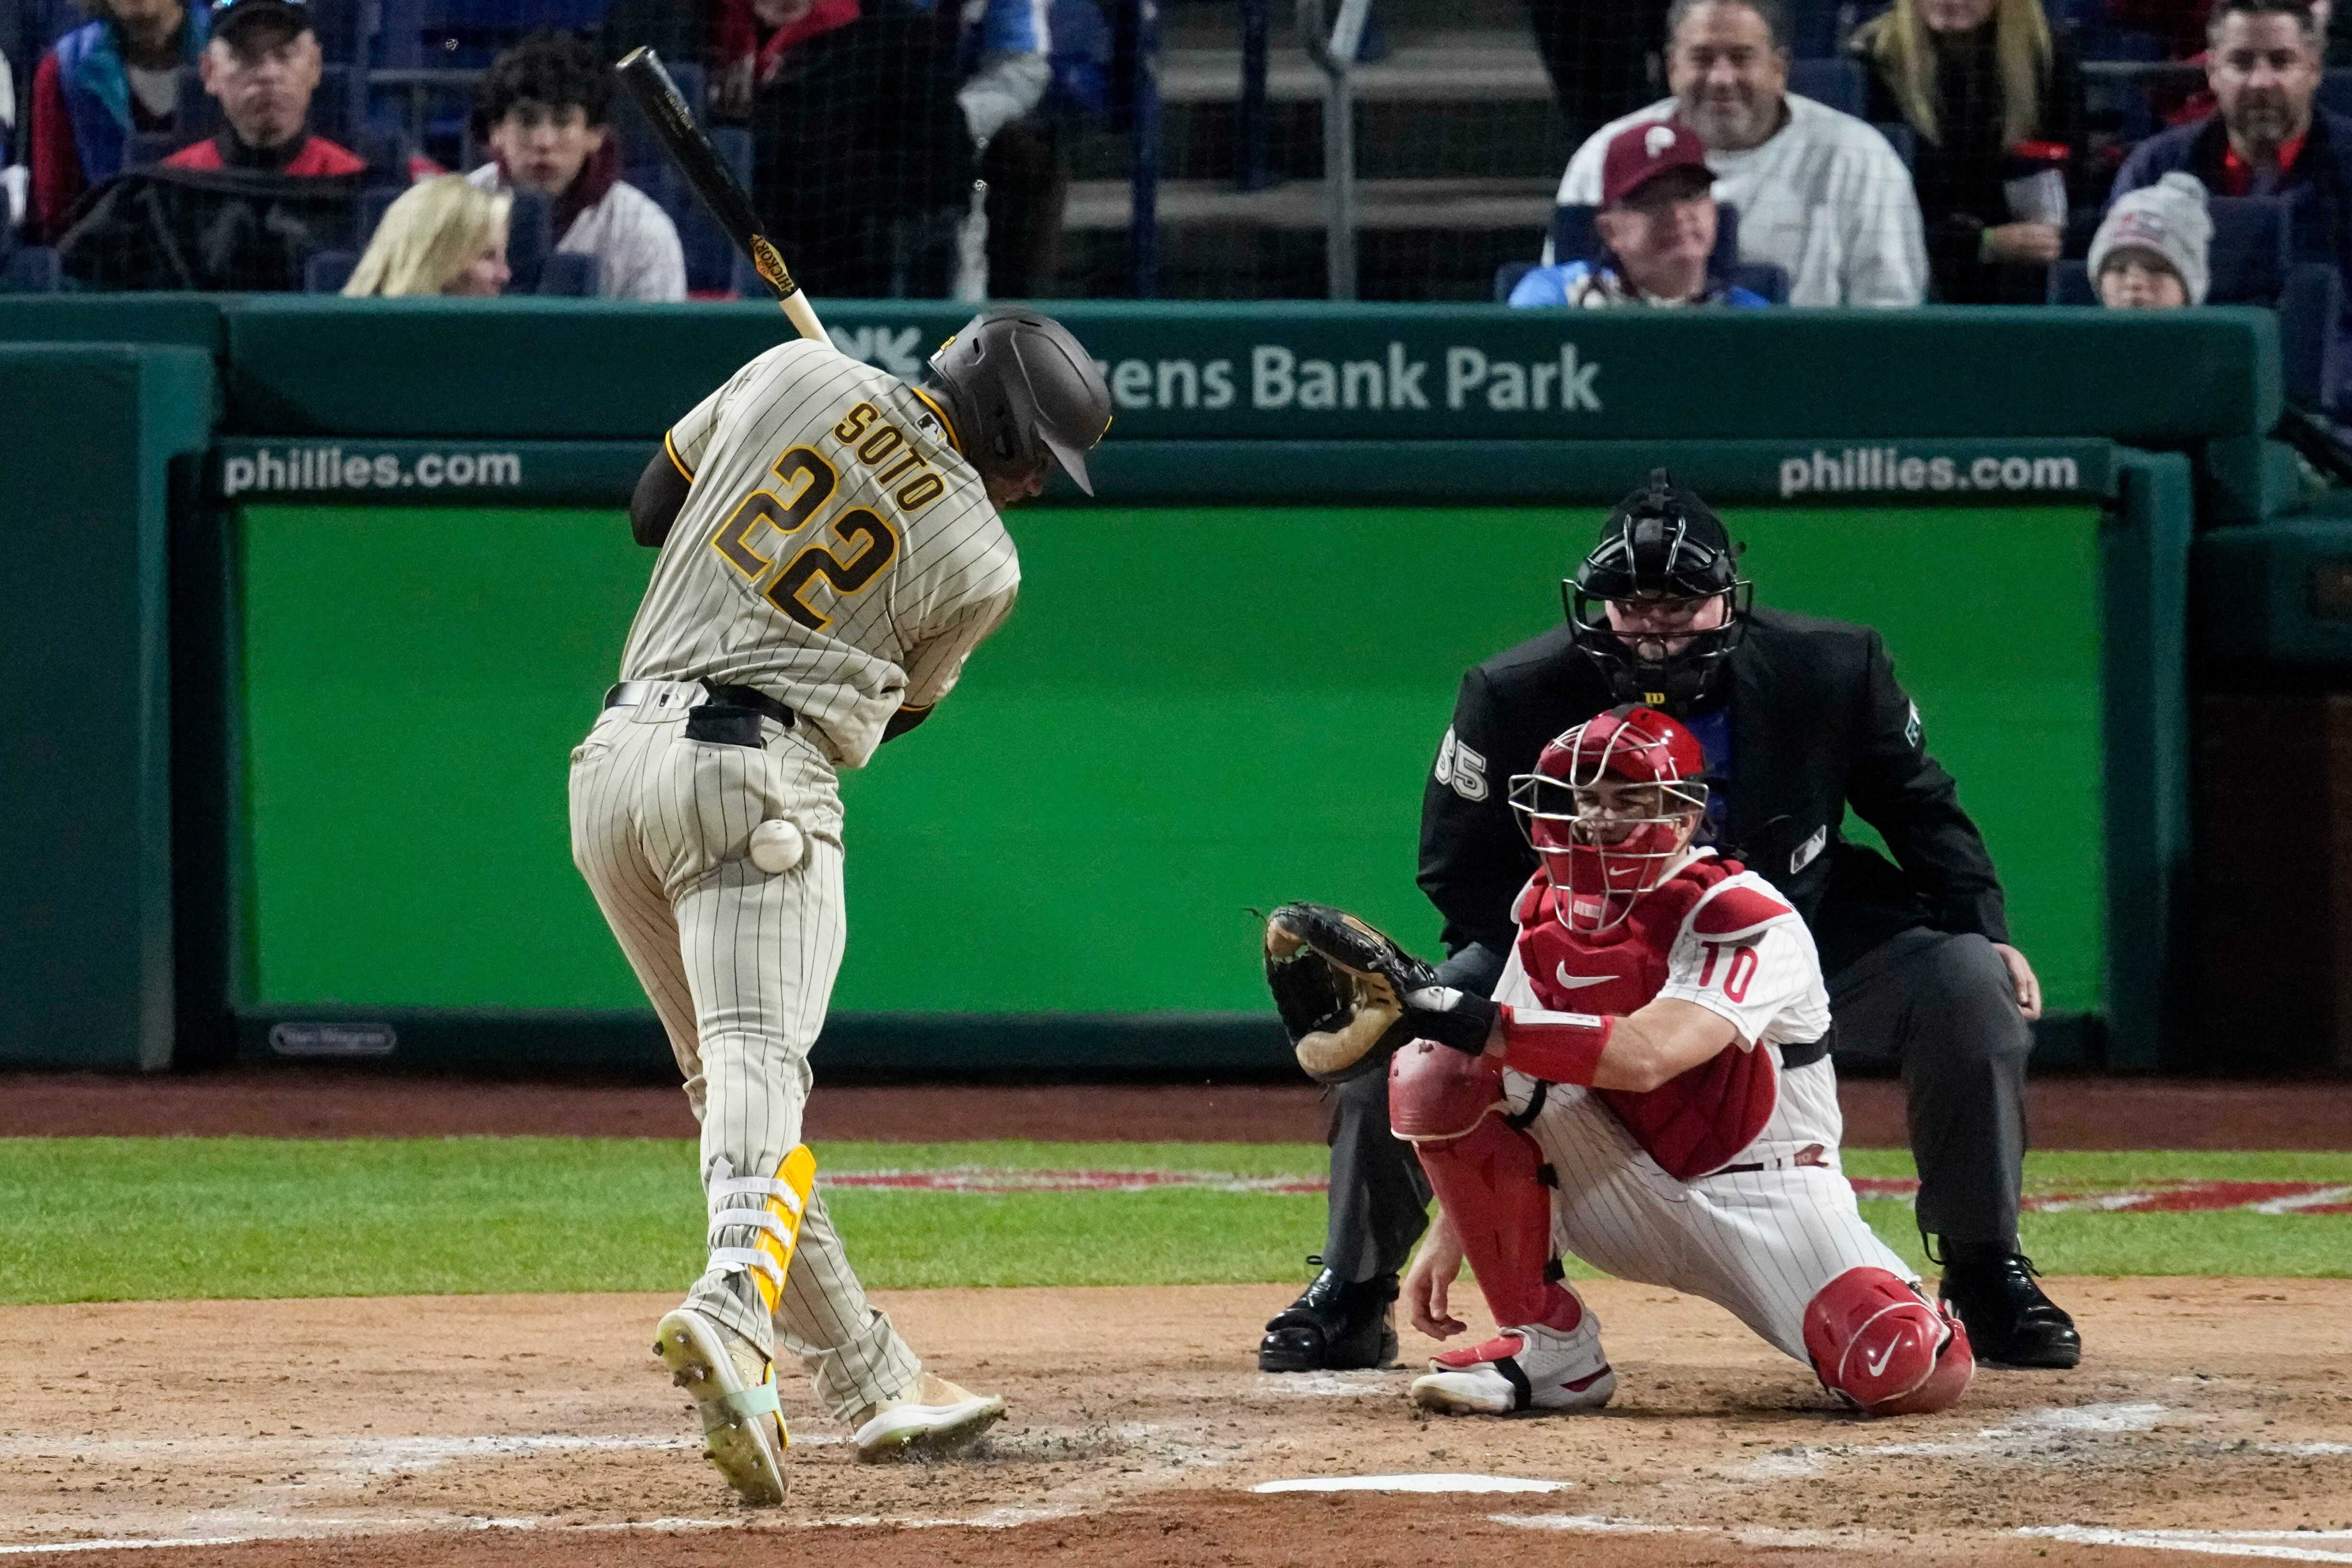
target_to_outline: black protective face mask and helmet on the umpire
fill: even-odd
[[[1559,583],[1576,646],[1599,665],[1621,703],[1686,715],[1708,701],[1748,632],[1755,585],[1738,574],[1738,545],[1698,491],[1663,468],[1618,501],[1599,543]],[[1672,637],[1625,637],[1609,623],[1611,599],[1722,599],[1722,623]],[[1668,651],[1668,644],[1679,644]],[[1646,656],[1656,654],[1656,656]]]

